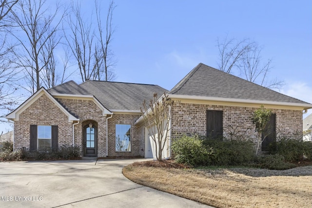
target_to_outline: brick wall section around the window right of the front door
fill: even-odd
[[[108,119],[108,156],[133,157],[141,154],[140,129],[134,123],[140,117],[139,114],[113,114]],[[116,151],[116,124],[131,125],[131,151]]]

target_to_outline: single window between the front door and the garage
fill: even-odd
[[[116,124],[116,151],[131,151],[131,125]]]

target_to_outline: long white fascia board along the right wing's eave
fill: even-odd
[[[312,104],[309,104],[309,103],[307,103],[307,104],[306,103],[289,103],[289,102],[277,102],[277,101],[265,101],[265,100],[248,100],[248,99],[206,97],[206,96],[194,96],[194,95],[174,95],[174,94],[169,94],[168,97],[174,98],[174,99],[207,100],[207,101],[219,101],[219,102],[293,106],[293,107],[301,107],[303,109],[311,109],[312,108]]]

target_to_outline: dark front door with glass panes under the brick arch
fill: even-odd
[[[85,128],[84,156],[97,156],[97,133],[94,127]]]

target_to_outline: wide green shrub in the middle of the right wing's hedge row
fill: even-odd
[[[250,140],[204,139],[203,144],[214,150],[211,165],[246,165],[254,160],[254,143]]]

